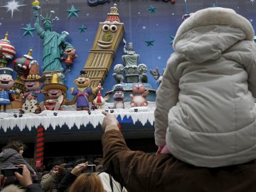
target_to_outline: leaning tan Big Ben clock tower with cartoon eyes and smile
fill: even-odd
[[[106,21],[100,22],[83,69],[92,80],[93,88],[97,87],[98,82],[105,80],[123,36],[124,23],[120,22],[117,4],[114,4]]]

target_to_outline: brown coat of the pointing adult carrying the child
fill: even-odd
[[[256,191],[256,161],[211,169],[196,167],[171,154],[131,151],[117,130],[105,132],[102,146],[103,169],[129,192]]]

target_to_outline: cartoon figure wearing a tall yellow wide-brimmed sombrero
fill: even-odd
[[[42,90],[47,92],[48,100],[41,102],[41,110],[62,110],[64,94],[68,87],[58,82],[58,75],[53,74],[51,83],[43,85]]]

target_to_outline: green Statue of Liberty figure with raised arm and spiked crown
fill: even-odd
[[[36,17],[34,26],[38,36],[43,39],[43,72],[63,71],[60,58],[65,46],[68,44],[68,42],[65,41],[65,37],[68,36],[68,32],[63,31],[59,34],[52,31],[52,23],[57,19],[57,17],[51,19],[51,14],[54,14],[54,11],[50,11],[50,16],[46,15],[45,18],[41,15],[44,27],[43,29],[39,23],[38,11],[34,12]]]

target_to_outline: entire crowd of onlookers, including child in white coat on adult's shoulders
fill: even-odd
[[[0,154],[2,191],[256,191],[253,39],[250,21],[231,9],[192,14],[156,92],[156,154],[130,150],[116,117],[102,111],[103,171],[80,161],[38,178],[12,142]],[[15,177],[3,171],[14,167]]]

